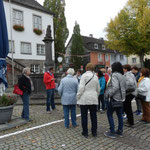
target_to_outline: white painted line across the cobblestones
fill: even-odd
[[[76,117],[80,117],[80,116],[81,116],[81,114],[76,115]],[[24,130],[21,130],[21,131],[5,134],[5,135],[0,136],[0,139],[10,137],[10,136],[13,136],[13,135],[18,135],[18,134],[21,134],[21,133],[25,133],[25,132],[28,132],[28,131],[35,130],[35,129],[43,128],[43,127],[46,127],[46,126],[50,126],[52,124],[63,122],[64,120],[65,119],[61,119],[61,120],[49,122],[49,123],[46,123],[46,124],[42,124],[42,125],[39,125],[39,126],[35,126],[35,127],[32,127],[32,128],[24,129]]]

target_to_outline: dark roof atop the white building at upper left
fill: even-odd
[[[4,1],[9,1],[9,0],[4,0]],[[44,13],[53,15],[52,12],[49,12],[48,10],[46,10],[42,5],[40,5],[37,1],[35,0],[11,0],[12,3],[30,8],[30,9],[35,9],[38,11],[42,11]]]

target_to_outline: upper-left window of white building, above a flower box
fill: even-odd
[[[23,26],[23,12],[13,9],[13,25]]]

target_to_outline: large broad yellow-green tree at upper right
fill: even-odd
[[[106,27],[108,47],[140,57],[150,53],[150,0],[129,0]]]

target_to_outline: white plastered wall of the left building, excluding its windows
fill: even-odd
[[[4,8],[5,8],[5,14],[6,14],[7,28],[8,28],[8,38],[9,40],[11,39],[10,31],[12,29],[12,40],[14,41],[14,44],[15,44],[15,53],[13,55],[14,59],[45,60],[45,56],[37,55],[36,45],[44,44],[42,40],[45,37],[46,28],[48,25],[51,25],[52,38],[54,39],[53,16],[46,14],[44,12],[22,7],[17,4],[11,4],[11,8],[12,8],[11,14],[12,14],[13,9],[20,10],[23,12],[23,24],[24,24],[25,30],[23,32],[18,32],[13,29],[13,23],[12,23],[12,28],[10,29],[10,9],[9,9],[8,2],[4,1]],[[33,32],[33,15],[41,16],[42,18],[43,34],[40,36],[36,35]],[[21,42],[31,43],[32,55],[21,54],[21,51],[20,51]],[[53,60],[54,60],[54,42],[52,44],[52,53],[53,53]],[[9,53],[8,56],[11,57],[11,54]]]

